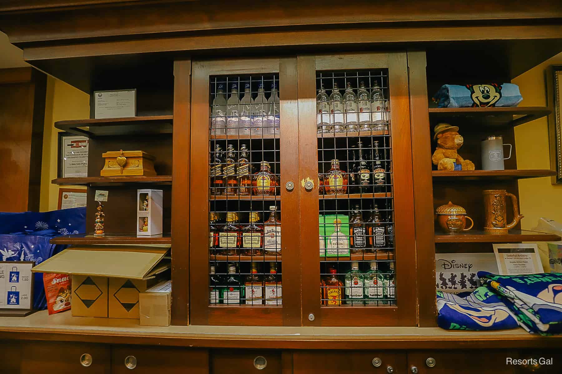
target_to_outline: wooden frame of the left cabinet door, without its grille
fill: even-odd
[[[299,190],[287,191],[298,177],[296,57],[201,59],[192,66],[191,189],[189,226],[191,268],[191,324],[298,326],[301,320],[301,253]],[[279,73],[280,157],[282,201],[283,305],[209,305],[209,76]],[[297,183],[295,183],[297,184]],[[287,233],[291,234],[288,235]]]

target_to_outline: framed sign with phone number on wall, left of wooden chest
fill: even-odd
[[[88,176],[88,145],[85,136],[58,133],[58,177]]]

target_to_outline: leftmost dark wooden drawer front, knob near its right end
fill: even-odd
[[[36,374],[39,372],[57,374],[110,373],[111,354],[109,345],[64,341],[24,341],[21,343],[21,348],[21,374]]]

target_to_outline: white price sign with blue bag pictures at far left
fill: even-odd
[[[0,309],[31,309],[32,266],[0,262]]]

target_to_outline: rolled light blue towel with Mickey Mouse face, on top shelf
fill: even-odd
[[[439,108],[516,107],[522,100],[519,86],[512,83],[443,85],[433,96]]]

